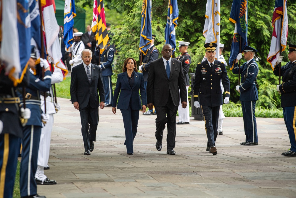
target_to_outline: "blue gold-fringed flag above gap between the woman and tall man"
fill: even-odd
[[[146,55],[149,44],[152,42],[152,27],[151,27],[151,1],[143,0],[141,12],[141,36],[139,50]]]

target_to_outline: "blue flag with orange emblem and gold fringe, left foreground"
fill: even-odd
[[[30,21],[26,21],[28,17],[29,4],[28,0],[17,0],[17,13],[19,16],[19,20],[17,21],[17,30],[19,36],[19,46],[20,46],[20,79],[19,82],[22,81],[24,74],[27,71],[29,58],[31,54],[31,29],[28,28]]]

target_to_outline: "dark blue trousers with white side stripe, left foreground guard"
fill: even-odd
[[[20,196],[37,194],[35,173],[37,170],[38,148],[41,126],[24,126],[22,138],[22,161],[20,163]]]

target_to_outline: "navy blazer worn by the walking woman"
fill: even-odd
[[[114,90],[112,107],[116,107],[117,98],[119,95],[119,99],[117,102],[117,108],[122,110],[127,110],[128,105],[131,100],[131,109],[139,110],[142,109],[139,90],[141,92],[142,104],[147,106],[146,100],[146,91],[144,88],[144,76],[142,73],[134,71],[134,83],[133,87],[128,83],[128,74],[127,72],[123,72],[117,75],[116,88]]]

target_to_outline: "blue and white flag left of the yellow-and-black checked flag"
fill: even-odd
[[[65,0],[64,10],[64,43],[69,49],[73,43],[74,17],[76,16],[74,0]]]

